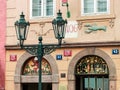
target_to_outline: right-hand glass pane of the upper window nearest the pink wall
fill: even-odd
[[[53,15],[53,0],[46,1],[46,16]]]

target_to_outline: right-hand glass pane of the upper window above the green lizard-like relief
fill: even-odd
[[[98,12],[107,12],[107,0],[98,0],[97,1],[97,11]]]

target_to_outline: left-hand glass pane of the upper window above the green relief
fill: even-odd
[[[94,12],[94,0],[84,0],[84,13]]]

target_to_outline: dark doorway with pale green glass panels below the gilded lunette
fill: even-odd
[[[76,90],[109,90],[108,75],[76,75]]]

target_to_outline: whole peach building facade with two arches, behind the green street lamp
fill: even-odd
[[[66,3],[67,2],[67,3]],[[56,44],[51,21],[68,21],[61,48],[42,60],[43,90],[119,90],[119,0],[8,0],[5,90],[37,90],[38,61],[20,49],[14,23],[30,22],[25,45]],[[68,16],[67,16],[68,15]]]

